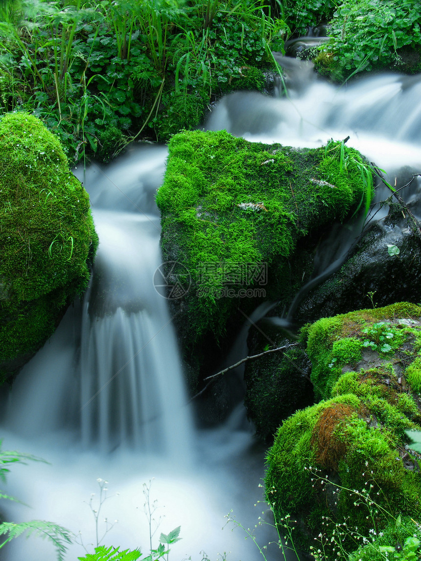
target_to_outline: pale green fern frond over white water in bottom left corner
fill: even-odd
[[[51,541],[56,548],[57,560],[64,561],[64,556],[67,551],[67,545],[72,542],[72,533],[58,526],[53,522],[47,522],[45,520],[30,520],[29,522],[3,522],[0,524],[0,536],[7,535],[6,540],[0,544],[0,549],[8,541],[19,537],[21,534],[26,532],[27,536],[34,534],[35,536],[42,537],[42,539]]]

